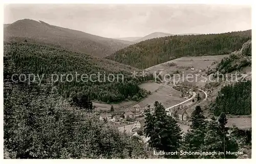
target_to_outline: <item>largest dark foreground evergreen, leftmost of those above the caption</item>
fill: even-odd
[[[164,106],[155,102],[155,113],[145,110],[145,134],[150,137],[148,144],[157,151],[175,152],[181,144],[181,128],[177,122],[166,115]],[[165,158],[178,158],[178,155],[165,155]]]

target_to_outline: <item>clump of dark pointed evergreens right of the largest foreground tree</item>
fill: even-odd
[[[216,152],[214,155],[186,155],[182,158],[237,158],[227,152],[238,151],[238,144],[233,137],[227,136],[226,115],[222,113],[218,118],[205,121],[200,106],[191,114],[192,125],[183,138],[182,150],[191,152]],[[224,154],[219,154],[224,152]]]

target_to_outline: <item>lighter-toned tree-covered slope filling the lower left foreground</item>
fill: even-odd
[[[4,84],[5,158],[152,158],[151,154],[138,139],[70,105],[48,85]]]

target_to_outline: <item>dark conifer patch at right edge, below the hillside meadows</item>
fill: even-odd
[[[251,114],[251,81],[224,86],[211,104],[215,115],[221,112],[233,115]]]

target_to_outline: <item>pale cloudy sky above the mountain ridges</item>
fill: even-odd
[[[109,38],[142,37],[153,32],[171,34],[223,33],[251,29],[246,5],[125,5],[125,4],[9,4],[4,23],[20,19]]]

